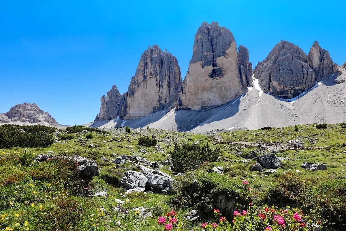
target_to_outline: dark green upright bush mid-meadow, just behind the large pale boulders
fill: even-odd
[[[207,143],[204,146],[199,144],[175,144],[174,150],[170,152],[173,168],[176,171],[185,172],[195,169],[204,162],[213,162],[218,159],[220,148],[212,149]]]

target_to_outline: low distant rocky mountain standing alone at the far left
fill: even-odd
[[[55,119],[48,112],[41,110],[37,104],[17,104],[10,108],[9,112],[0,114],[0,123],[44,123],[48,125],[58,125]]]

